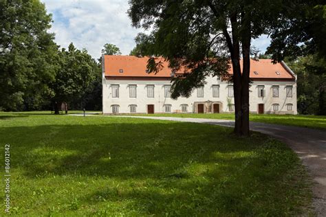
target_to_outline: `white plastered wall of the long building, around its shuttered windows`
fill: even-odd
[[[181,112],[181,105],[188,104],[188,112],[197,112],[196,102],[206,102],[210,100],[220,104],[220,112],[230,112],[228,110],[228,82],[221,82],[217,78],[207,78],[204,87],[204,98],[197,98],[195,89],[190,98],[164,98],[164,84],[171,84],[169,80],[107,80],[102,79],[103,93],[103,113],[112,113],[111,105],[119,105],[119,113],[130,113],[129,105],[137,105],[137,113],[147,113],[146,105],[154,104],[155,113],[164,113],[164,104],[171,104],[171,112]],[[119,84],[119,98],[112,98],[111,84]],[[137,84],[137,98],[129,98],[129,84]],[[147,84],[154,84],[154,98],[147,98]],[[213,98],[213,84],[219,84],[219,98]],[[265,86],[265,97],[258,98],[257,85]],[[272,98],[272,85],[279,85],[279,98]],[[286,85],[293,85],[292,98],[286,98]],[[232,103],[234,99],[232,98]],[[296,82],[253,82],[250,87],[250,112],[257,113],[258,104],[264,104],[265,113],[290,113],[296,114]],[[293,111],[287,111],[286,104],[293,104]],[[279,111],[273,111],[272,104],[279,104]],[[208,109],[208,108],[206,108]]]

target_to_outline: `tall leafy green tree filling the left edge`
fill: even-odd
[[[39,109],[56,75],[52,18],[39,0],[0,1],[0,109]]]

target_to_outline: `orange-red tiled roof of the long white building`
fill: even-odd
[[[164,58],[158,58],[162,61],[163,68],[158,73],[146,73],[147,60],[149,57],[138,58],[136,56],[111,56],[105,55],[105,76],[113,77],[171,77],[172,69]],[[157,60],[157,61],[158,61]],[[241,64],[242,65],[242,64]],[[120,73],[120,69],[123,70]],[[177,73],[183,73],[182,71]],[[230,67],[232,74],[232,66]],[[273,64],[270,59],[250,60],[250,78],[285,78],[294,79],[292,73],[287,71],[283,64]]]

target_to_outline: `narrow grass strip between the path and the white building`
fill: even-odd
[[[153,115],[137,114],[146,116],[166,116],[166,117],[193,117],[208,119],[235,119],[234,114],[215,113],[215,114],[197,114],[197,113],[156,113]],[[301,126],[307,128],[316,128],[326,130],[326,116],[318,115],[258,115],[250,114],[251,122],[261,122],[268,124],[281,124],[288,126]]]

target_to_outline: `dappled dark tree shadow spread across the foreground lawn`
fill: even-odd
[[[232,136],[232,128],[135,124],[126,119],[98,125],[8,127],[0,132],[1,138],[9,134],[5,142],[12,147],[12,163],[27,179],[108,179],[107,185],[78,196],[85,204],[110,202],[140,214],[251,216],[265,210],[277,216],[287,209],[284,202],[289,197],[298,201],[286,190],[274,194],[285,187],[279,180],[291,172],[295,156],[268,159],[263,148],[290,150],[264,145],[267,137],[256,133],[239,139]],[[110,185],[112,180],[121,187]]]

